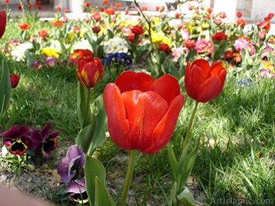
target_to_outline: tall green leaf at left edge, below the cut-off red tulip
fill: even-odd
[[[10,83],[10,73],[7,63],[2,60],[2,79],[0,83],[0,119],[5,111],[6,106],[10,102],[12,95],[12,84]]]

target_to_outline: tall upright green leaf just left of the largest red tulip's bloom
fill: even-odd
[[[89,150],[87,152],[90,156],[94,153],[94,150],[96,150],[96,148],[102,145],[106,140],[105,122],[107,115],[104,107],[103,95],[96,98],[96,105],[98,106],[98,113],[96,114],[96,130],[94,131],[94,135],[91,139]]]

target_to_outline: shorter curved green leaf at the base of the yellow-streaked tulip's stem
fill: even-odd
[[[76,145],[82,148],[85,153],[89,150],[89,146],[96,130],[96,125],[96,115],[92,115],[91,124],[80,130],[76,137]]]

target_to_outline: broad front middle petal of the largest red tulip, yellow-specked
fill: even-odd
[[[126,91],[122,93],[122,99],[131,127],[132,150],[145,150],[151,146],[153,130],[169,106],[166,100],[153,91]]]

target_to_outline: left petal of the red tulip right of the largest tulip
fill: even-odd
[[[206,82],[206,76],[201,67],[197,67],[196,65],[192,66],[189,79],[186,80],[186,82],[185,87],[188,88],[188,95],[190,98],[197,100],[197,97],[201,93],[201,84]]]

